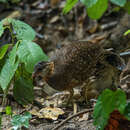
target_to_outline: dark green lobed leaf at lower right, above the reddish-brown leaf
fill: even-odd
[[[126,95],[120,89],[113,92],[106,89],[99,96],[96,106],[94,108],[93,118],[94,125],[100,130],[103,130],[109,115],[113,110],[119,110],[120,113],[124,113],[126,107]]]

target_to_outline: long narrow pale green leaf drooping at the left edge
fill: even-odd
[[[15,74],[15,71],[18,68],[19,61],[16,57],[16,50],[17,44],[10,51],[9,58],[6,59],[6,62],[0,72],[0,86],[2,87],[3,91],[7,88]]]

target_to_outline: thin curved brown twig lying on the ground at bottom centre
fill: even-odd
[[[84,114],[84,113],[91,112],[91,111],[93,111],[93,108],[92,109],[85,109],[85,110],[83,110],[81,112],[73,114],[73,115],[69,116],[68,118],[66,118],[64,121],[62,121],[59,125],[57,125],[56,127],[54,127],[52,130],[58,130],[63,124],[65,124],[70,119],[72,119],[72,118],[74,118],[76,116],[79,116],[80,114]]]

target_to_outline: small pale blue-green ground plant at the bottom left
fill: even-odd
[[[13,130],[21,129],[22,126],[29,128],[29,120],[32,118],[29,112],[25,112],[24,115],[15,115],[12,118]]]

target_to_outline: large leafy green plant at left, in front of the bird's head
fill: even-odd
[[[35,38],[35,31],[29,25],[15,19],[4,19],[0,23],[1,30],[8,28],[12,38],[10,51],[9,44],[0,48],[0,87],[6,95],[13,81],[15,86],[20,86],[20,91],[26,91],[27,95],[24,95],[23,99],[19,94],[19,87],[15,88],[14,94],[17,101],[19,100],[21,104],[30,103],[33,100],[33,85],[30,80],[32,80],[34,66],[41,60],[47,61],[48,57],[36,43],[32,42]],[[4,30],[1,30],[0,34],[3,36]],[[18,95],[21,97],[18,98]],[[24,103],[21,100],[24,100]]]

